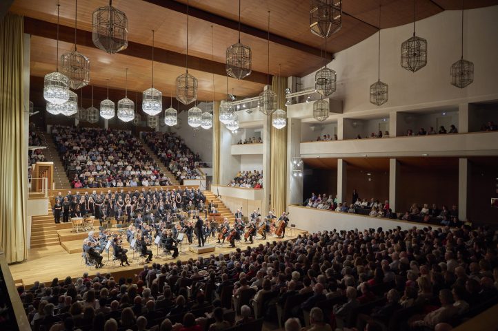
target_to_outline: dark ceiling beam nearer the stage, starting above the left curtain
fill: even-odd
[[[41,21],[39,19],[32,19],[30,17],[24,17],[24,32],[48,39],[57,39],[56,24]],[[59,41],[74,43],[74,28],[68,27],[66,25],[59,25]],[[77,44],[87,47],[94,47],[92,41],[92,32],[78,29]],[[152,46],[128,41],[128,48],[119,52],[119,54],[152,60]],[[185,65],[185,54],[172,52],[170,50],[163,50],[162,48],[155,47],[154,61],[165,63],[168,65],[175,65],[177,67],[183,67]],[[197,56],[189,55],[188,64],[189,69],[191,70],[199,70],[201,72],[209,72],[210,74],[226,76],[225,63],[219,63],[216,61],[208,60],[206,58],[199,58]],[[266,85],[267,75],[265,72],[256,72],[253,70],[250,76],[244,78],[244,81],[251,81],[253,83]]]

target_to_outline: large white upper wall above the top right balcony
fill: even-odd
[[[450,85],[450,66],[460,58],[461,12],[445,10],[417,21],[417,36],[428,41],[428,63],[415,73],[399,64],[401,43],[412,36],[412,24],[381,31],[380,78],[389,85],[387,103],[377,107],[368,98],[370,85],[377,81],[377,34],[335,54],[336,60],[329,65],[337,72],[337,92],[332,98],[343,100],[343,113],[351,114],[425,103],[458,104],[497,94],[497,17],[498,6],[465,11],[464,58],[472,61],[475,68],[475,81],[465,89]],[[303,89],[313,86],[315,72],[303,77],[301,83]]]

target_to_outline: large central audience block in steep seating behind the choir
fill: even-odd
[[[129,131],[52,127],[72,187],[170,185],[170,180]]]

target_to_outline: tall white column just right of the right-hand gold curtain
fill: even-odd
[[[292,163],[292,158],[301,157],[301,119],[287,120],[287,205],[303,202],[303,164]],[[301,175],[294,175],[292,170],[301,170]]]

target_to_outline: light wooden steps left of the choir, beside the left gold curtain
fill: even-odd
[[[57,226],[54,223],[52,206],[48,202],[48,213],[43,216],[33,216],[31,220],[31,248],[60,245]]]

